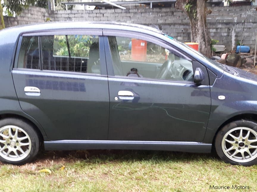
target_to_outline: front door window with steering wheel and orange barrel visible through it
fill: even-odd
[[[193,81],[192,62],[174,51],[142,39],[108,39],[115,76]]]

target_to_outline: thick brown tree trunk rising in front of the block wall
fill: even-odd
[[[199,52],[211,57],[211,38],[206,25],[206,15],[211,11],[206,7],[206,0],[177,0],[175,7],[187,13],[192,41],[199,43]]]

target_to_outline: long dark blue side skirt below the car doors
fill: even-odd
[[[117,140],[57,140],[45,141],[45,150],[87,150],[87,149],[123,149],[123,150],[161,150],[192,153],[210,153],[211,145],[198,142],[170,141],[117,141]]]

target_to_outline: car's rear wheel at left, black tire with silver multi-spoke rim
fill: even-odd
[[[40,148],[39,134],[26,120],[0,120],[0,161],[22,165],[32,161]]]

